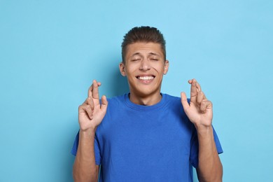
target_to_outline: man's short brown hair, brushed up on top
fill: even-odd
[[[145,43],[159,43],[166,60],[166,41],[163,34],[155,27],[134,27],[125,34],[123,43],[121,44],[121,54],[123,56],[123,63],[125,63],[125,55],[127,52],[127,45],[137,42]]]

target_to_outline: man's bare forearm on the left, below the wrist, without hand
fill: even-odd
[[[94,158],[94,130],[80,131],[78,151],[73,165],[75,181],[97,181],[98,169]]]

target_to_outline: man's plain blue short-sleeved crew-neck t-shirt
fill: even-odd
[[[142,106],[124,94],[108,102],[94,140],[99,181],[193,181],[198,139],[181,98],[162,94],[158,104]],[[214,140],[223,153],[215,131]],[[73,155],[77,148],[78,135]]]

